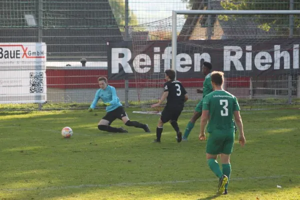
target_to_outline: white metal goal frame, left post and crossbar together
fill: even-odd
[[[300,14],[300,10],[173,10],[172,12],[172,60],[171,69],[176,73],[177,55],[177,14]]]

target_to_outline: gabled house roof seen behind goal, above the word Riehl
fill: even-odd
[[[220,4],[221,0],[211,0],[211,10],[223,10]],[[207,9],[207,2],[204,0],[193,4],[192,9]],[[203,31],[200,28],[196,29],[197,26],[207,27],[207,15],[188,15],[183,25],[183,28],[178,36],[178,40],[189,39],[193,31]],[[252,16],[235,16],[229,17],[228,20],[221,20],[218,15],[211,15],[212,35],[215,39],[252,39],[252,38],[268,38],[276,35],[274,29],[264,31],[258,27],[258,23],[253,20]],[[206,39],[206,31],[193,32],[198,34],[199,37]],[[201,35],[201,36],[200,36]],[[200,38],[198,38],[200,39]]]

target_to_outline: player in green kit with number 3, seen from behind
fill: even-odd
[[[224,73],[213,71],[210,73],[211,84],[214,89],[203,98],[201,127],[199,139],[205,139],[205,125],[209,137],[206,143],[206,158],[209,168],[219,178],[218,192],[227,194],[227,186],[231,173],[229,162],[234,142],[234,116],[239,130],[238,140],[241,146],[245,143],[243,125],[239,115],[239,105],[234,95],[223,90]],[[220,154],[222,170],[216,161]]]

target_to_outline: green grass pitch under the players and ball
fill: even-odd
[[[180,143],[165,124],[157,144],[158,115],[126,111],[152,132],[100,132],[103,109],[0,112],[0,199],[300,199],[298,109],[241,112],[247,143],[235,142],[226,196],[214,196],[199,122]],[[190,116],[181,114],[182,130]],[[70,139],[61,138],[64,126]]]

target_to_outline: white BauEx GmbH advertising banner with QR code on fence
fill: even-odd
[[[0,43],[0,103],[45,102],[45,72],[45,43]]]

